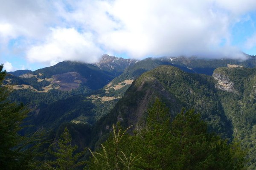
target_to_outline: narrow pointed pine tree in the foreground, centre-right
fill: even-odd
[[[140,169],[168,169],[175,157],[170,133],[170,112],[166,105],[156,99],[148,109],[148,118],[143,129],[137,130],[133,139],[134,154],[142,157],[137,162]]]

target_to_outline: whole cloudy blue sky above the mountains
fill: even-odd
[[[256,55],[256,0],[0,0],[0,63]]]

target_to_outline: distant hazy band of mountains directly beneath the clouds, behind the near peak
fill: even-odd
[[[6,77],[8,79],[6,83],[15,85],[16,89],[29,88],[32,91],[41,92],[51,89],[71,91],[79,87],[89,92],[108,85],[106,86],[108,90],[118,88],[122,91],[116,96],[119,98],[131,85],[132,80],[160,65],[172,65],[187,73],[212,76],[214,70],[220,67],[256,67],[256,59],[255,56],[248,55],[246,60],[201,59],[197,57],[157,57],[137,60],[105,54],[102,55],[99,62],[93,64],[63,61],[36,71],[9,72],[12,75]],[[120,86],[126,89],[120,88]]]

